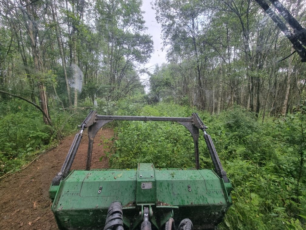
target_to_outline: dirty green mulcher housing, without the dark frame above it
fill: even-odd
[[[142,206],[148,206],[155,228],[170,217],[188,217],[203,229],[222,221],[231,205],[230,190],[213,170],[155,169],[143,163],[137,170],[72,171],[49,192],[60,229],[103,229],[115,200],[122,203],[126,228],[137,228]]]

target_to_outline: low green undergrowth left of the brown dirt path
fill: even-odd
[[[50,127],[43,123],[41,112],[33,105],[18,99],[0,102],[0,177],[19,171],[38,154],[55,146],[60,138],[76,132],[87,114],[88,110],[51,108]]]

